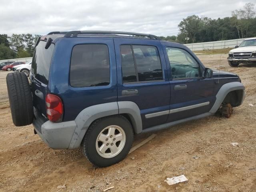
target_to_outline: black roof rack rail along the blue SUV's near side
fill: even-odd
[[[123,34],[123,35],[135,35],[135,36],[145,36],[152,40],[162,40],[158,36],[144,34],[144,33],[133,33],[133,32],[122,32],[122,31],[70,31],[67,32],[64,37],[77,37],[78,34]]]

